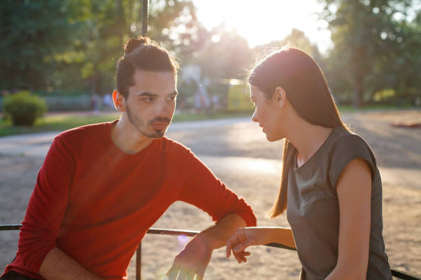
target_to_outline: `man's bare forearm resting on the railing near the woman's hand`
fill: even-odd
[[[238,228],[246,225],[246,222],[239,215],[226,215],[215,226],[210,226],[210,228],[200,232],[197,237],[203,238],[214,249],[221,248],[226,245],[228,238]]]

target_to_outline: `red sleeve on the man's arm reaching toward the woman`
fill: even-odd
[[[186,150],[186,161],[182,166],[184,180],[180,186],[179,200],[206,211],[214,221],[229,214],[239,215],[247,226],[256,225],[256,217],[244,198],[239,198],[228,189],[209,169]]]

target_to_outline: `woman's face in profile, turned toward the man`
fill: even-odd
[[[263,128],[266,139],[270,142],[283,139],[281,108],[277,101],[276,93],[268,100],[257,86],[250,85],[250,98],[255,104],[255,113],[253,113],[252,121],[256,121]]]

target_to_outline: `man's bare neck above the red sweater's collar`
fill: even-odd
[[[111,127],[111,141],[126,154],[136,154],[149,146],[153,139],[139,132],[124,114]]]

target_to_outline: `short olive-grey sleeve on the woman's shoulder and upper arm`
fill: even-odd
[[[330,154],[330,186],[336,193],[336,181],[345,166],[353,159],[363,159],[371,169],[371,180],[376,174],[376,159],[369,145],[358,135],[345,135],[338,137],[332,145]]]

